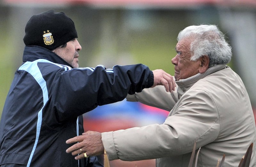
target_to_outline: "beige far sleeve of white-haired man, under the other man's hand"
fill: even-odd
[[[126,100],[130,102],[141,102],[143,104],[164,109],[167,111],[172,110],[178,99],[177,85],[175,91],[166,92],[165,87],[162,85],[143,89],[140,93],[134,95],[127,95]]]

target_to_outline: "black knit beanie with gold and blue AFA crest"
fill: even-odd
[[[25,27],[26,46],[37,45],[53,50],[77,38],[74,22],[63,12],[53,10],[33,15]]]

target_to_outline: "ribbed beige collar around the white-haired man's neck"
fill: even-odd
[[[188,77],[186,79],[181,79],[176,81],[176,84],[178,87],[178,94],[179,96],[183,95],[192,85],[194,85],[198,80],[206,77],[207,75],[210,75],[214,72],[217,72],[219,70],[222,70],[226,67],[225,64],[223,65],[215,65],[212,67],[209,67],[204,73],[198,73],[196,75],[193,75],[191,77]]]

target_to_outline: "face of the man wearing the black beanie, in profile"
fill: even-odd
[[[58,56],[60,56],[63,60],[65,60],[68,64],[70,64],[73,68],[78,67],[78,51],[81,50],[82,47],[79,42],[75,39],[67,42],[66,47],[58,47],[53,50]]]

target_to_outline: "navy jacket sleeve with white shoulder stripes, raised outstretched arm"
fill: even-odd
[[[61,122],[98,105],[122,101],[128,93],[141,92],[153,83],[153,72],[142,64],[74,68],[56,74],[46,107]]]

